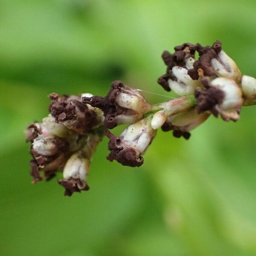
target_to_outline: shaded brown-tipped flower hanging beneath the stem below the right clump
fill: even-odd
[[[188,111],[180,112],[174,116],[169,116],[162,126],[162,130],[173,130],[174,137],[179,138],[183,136],[186,140],[188,140],[190,137],[189,131],[201,125],[209,116],[210,113],[208,112],[198,114],[196,108],[194,107]]]

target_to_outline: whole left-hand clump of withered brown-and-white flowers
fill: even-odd
[[[32,183],[55,177],[63,172],[65,195],[88,190],[87,175],[96,146],[102,140],[102,111],[81,102],[79,96],[60,96],[52,93],[49,116],[41,123],[32,123],[26,130],[31,142],[30,174]]]

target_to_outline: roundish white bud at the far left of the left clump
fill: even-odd
[[[43,156],[53,156],[58,152],[53,136],[35,138],[32,148]]]

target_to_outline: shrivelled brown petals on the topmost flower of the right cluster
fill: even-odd
[[[213,58],[218,58],[218,53],[221,51],[221,41],[216,41],[212,46],[201,46],[201,44],[195,44],[192,49],[196,50],[199,54],[199,59],[194,62],[193,68],[188,70],[188,75],[193,80],[199,79],[198,69],[203,70],[204,76],[212,76],[214,70],[211,65]]]

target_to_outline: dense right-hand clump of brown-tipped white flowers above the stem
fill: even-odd
[[[175,47],[173,54],[163,52],[167,71],[158,83],[179,96],[194,95],[198,114],[212,113],[225,121],[237,121],[241,106],[256,104],[256,79],[242,76],[221,45],[220,41],[206,47],[186,43]],[[166,123],[163,130],[168,130]]]

